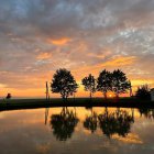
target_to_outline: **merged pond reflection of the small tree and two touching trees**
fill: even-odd
[[[134,110],[132,109],[132,114],[129,114],[125,110],[117,109],[113,112],[108,111],[108,108],[105,109],[103,113],[97,114],[91,110],[91,114],[86,117],[84,121],[84,128],[90,130],[94,133],[98,128],[106,134],[108,138],[111,138],[113,134],[119,136],[127,136],[131,130],[132,123],[134,123]]]

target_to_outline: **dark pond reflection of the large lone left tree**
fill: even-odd
[[[69,111],[67,108],[63,108],[59,114],[53,114],[51,117],[51,127],[53,134],[59,141],[66,141],[72,138],[75,128],[78,123],[76,112]]]

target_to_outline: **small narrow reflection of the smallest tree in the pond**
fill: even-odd
[[[94,133],[98,127],[97,113],[91,110],[91,116],[87,116],[86,120],[84,121],[84,128],[90,130]]]

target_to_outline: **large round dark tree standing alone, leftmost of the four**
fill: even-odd
[[[76,92],[78,85],[69,70],[61,68],[54,74],[51,88],[53,92],[61,94],[63,100]]]

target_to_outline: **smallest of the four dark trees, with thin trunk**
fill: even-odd
[[[86,91],[90,91],[90,99],[91,99],[92,94],[96,92],[96,88],[97,88],[95,77],[91,74],[89,74],[88,77],[85,77],[81,80],[81,84],[84,85]]]

